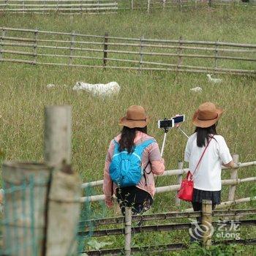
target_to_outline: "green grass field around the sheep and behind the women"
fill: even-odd
[[[255,10],[219,8],[217,10],[185,10],[183,12],[125,12],[117,15],[57,16],[1,15],[0,26],[41,29],[48,31],[78,31],[81,34],[104,34],[147,38],[221,40],[256,43]],[[43,108],[45,105],[72,105],[72,162],[83,181],[102,179],[105,154],[110,140],[118,134],[118,119],[129,105],[143,105],[151,118],[148,132],[162,143],[163,132],[157,129],[159,118],[184,113],[183,128],[191,134],[192,114],[202,102],[211,101],[225,109],[218,132],[223,135],[230,151],[238,153],[240,162],[256,159],[255,108],[256,80],[239,76],[219,75],[223,82],[213,85],[206,75],[168,72],[130,72],[102,69],[68,69],[0,63],[0,148],[4,159],[42,161]],[[72,91],[77,81],[108,83],[116,81],[121,92],[113,98],[92,97],[86,92]],[[48,83],[59,87],[47,89]],[[63,88],[62,85],[67,87]],[[189,89],[200,86],[201,94]],[[178,130],[167,135],[166,169],[178,167],[184,157],[186,138]],[[255,176],[254,167],[239,170],[239,178]],[[229,178],[229,172],[223,178]],[[174,184],[176,178],[159,178],[158,185]],[[223,188],[222,200],[227,200],[228,187]],[[96,192],[101,192],[98,189]],[[255,195],[255,184],[238,186],[236,198]],[[174,211],[173,193],[157,195],[152,212]],[[238,206],[252,207],[255,204]],[[181,208],[189,204],[182,203]],[[95,204],[99,212],[101,206]],[[107,214],[113,214],[107,211]],[[255,236],[255,228],[242,235]],[[182,239],[181,239],[182,236]],[[154,242],[187,241],[184,231],[160,233]],[[137,245],[151,243],[149,235],[135,236]],[[118,244],[120,240],[116,240]],[[255,253],[246,247],[248,254]]]

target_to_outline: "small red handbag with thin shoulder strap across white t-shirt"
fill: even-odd
[[[214,136],[212,137],[214,138]],[[212,140],[211,138],[211,140]],[[201,155],[197,167],[200,165],[200,162],[203,158],[203,155],[206,153],[206,149],[208,148],[211,140],[209,140],[206,148],[203,151],[203,154]],[[197,167],[195,167],[195,171],[197,170]],[[190,170],[187,173],[187,177],[181,182],[181,188],[178,190],[178,198],[184,201],[192,202],[193,198],[193,189],[194,189],[194,181],[192,180],[193,175],[195,175],[195,172],[192,174]]]

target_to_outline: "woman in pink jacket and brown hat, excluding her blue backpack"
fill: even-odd
[[[161,175],[165,170],[164,160],[161,157],[159,146],[151,136],[147,135],[148,116],[143,107],[132,105],[127,110],[127,115],[120,119],[119,125],[123,126],[121,134],[111,140],[105,161],[103,192],[105,203],[108,207],[113,206],[113,194],[118,198],[118,203],[124,214],[124,207],[132,207],[133,214],[146,211],[153,203],[155,192],[154,175]],[[132,154],[134,148],[146,141],[151,140],[148,146],[143,148],[142,161],[140,162],[143,175],[139,176],[138,184],[129,187],[120,187],[110,177],[111,162],[115,145],[118,152],[126,151]],[[117,153],[118,153],[117,152]],[[142,174],[142,173],[141,173]]]

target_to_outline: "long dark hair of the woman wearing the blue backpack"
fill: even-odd
[[[121,139],[119,140],[119,151],[124,151],[125,149],[127,149],[128,153],[131,153],[133,151],[133,147],[135,146],[134,140],[137,131],[147,134],[147,127],[123,127],[123,129],[121,130]]]

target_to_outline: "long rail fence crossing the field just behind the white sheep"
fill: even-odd
[[[256,45],[0,27],[0,61],[63,67],[256,75]]]

